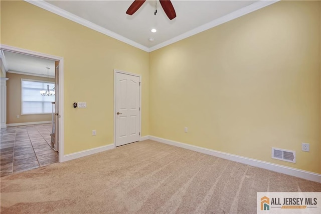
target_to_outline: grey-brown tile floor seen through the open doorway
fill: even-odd
[[[1,177],[58,162],[51,128],[51,124],[39,124],[1,129]]]

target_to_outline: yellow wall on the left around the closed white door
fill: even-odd
[[[64,57],[65,154],[114,142],[113,69],[141,74],[149,134],[148,53],[20,1],[1,1],[1,44]],[[87,108],[74,109],[78,101]]]

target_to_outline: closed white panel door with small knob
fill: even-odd
[[[140,77],[116,72],[116,146],[140,139]]]

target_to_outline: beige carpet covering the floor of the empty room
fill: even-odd
[[[256,213],[257,191],[321,184],[142,141],[1,178],[1,212]]]

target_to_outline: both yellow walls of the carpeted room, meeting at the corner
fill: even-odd
[[[1,43],[64,57],[65,154],[113,143],[120,69],[142,75],[142,136],[320,173],[320,11],[320,2],[279,2],[148,54],[1,1]],[[295,150],[296,163],[271,159],[272,146]]]

